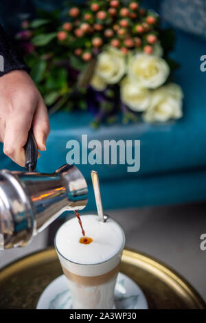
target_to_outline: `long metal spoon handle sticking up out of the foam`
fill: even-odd
[[[107,219],[107,216],[104,216],[103,207],[102,207],[102,198],[100,193],[100,181],[98,177],[98,172],[95,172],[95,170],[91,170],[91,180],[93,183],[95,202],[98,209],[98,219],[99,221],[105,222]]]

